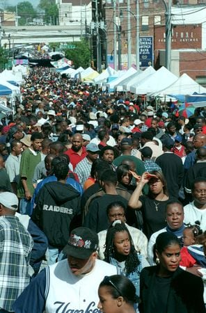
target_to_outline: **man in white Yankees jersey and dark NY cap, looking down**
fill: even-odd
[[[97,290],[116,267],[97,259],[98,236],[86,227],[72,230],[63,259],[42,270],[17,298],[15,313],[97,313]]]

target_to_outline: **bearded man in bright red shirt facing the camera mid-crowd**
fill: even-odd
[[[72,136],[72,147],[68,149],[65,154],[70,157],[70,163],[73,166],[73,170],[81,160],[86,157],[86,147],[83,145],[83,138],[81,134],[74,134]]]

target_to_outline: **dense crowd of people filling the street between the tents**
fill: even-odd
[[[0,125],[0,312],[205,312],[205,108],[43,67],[21,89]]]

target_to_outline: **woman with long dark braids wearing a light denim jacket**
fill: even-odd
[[[104,261],[115,265],[118,274],[133,282],[138,296],[139,275],[142,268],[149,264],[145,257],[136,252],[129,230],[121,220],[115,220],[107,230]]]

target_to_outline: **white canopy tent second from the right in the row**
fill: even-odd
[[[177,81],[178,77],[168,71],[166,67],[161,67],[159,70],[146,77],[138,84],[134,84],[130,87],[132,93],[139,95],[146,95],[148,93],[155,93],[157,90],[161,90],[171,86],[172,83]]]

